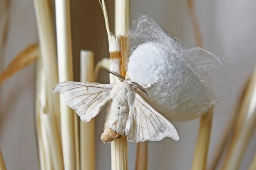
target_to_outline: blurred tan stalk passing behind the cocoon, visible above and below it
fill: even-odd
[[[195,40],[198,47],[203,48],[203,39],[199,28],[198,20],[195,13],[193,0],[187,0],[189,9],[189,16],[192,20],[192,25],[195,34]],[[192,170],[205,170],[207,166],[207,157],[212,129],[212,117],[213,117],[214,105],[212,105],[206,114],[201,116],[199,133],[197,143],[195,146],[195,155],[192,164]]]

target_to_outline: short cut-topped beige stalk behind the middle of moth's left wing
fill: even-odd
[[[92,51],[80,53],[80,81],[94,82],[94,57]],[[95,170],[95,128],[94,119],[90,122],[80,120],[81,170]]]

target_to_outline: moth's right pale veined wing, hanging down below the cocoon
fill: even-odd
[[[165,117],[154,110],[139,94],[135,94],[125,127],[130,142],[160,141],[165,137],[179,140],[177,130]]]

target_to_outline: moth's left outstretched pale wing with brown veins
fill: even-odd
[[[73,108],[84,122],[97,116],[103,106],[111,99],[112,84],[90,82],[60,82],[53,88],[53,93],[64,94],[67,105]]]

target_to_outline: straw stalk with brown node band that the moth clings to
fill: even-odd
[[[105,17],[106,29],[108,33],[109,53],[110,53],[110,70],[125,76],[126,60],[128,56],[127,32],[129,5],[128,0],[115,1],[115,35],[111,34],[108,25],[108,14],[104,0],[102,0],[102,10]],[[119,79],[112,74],[110,83],[115,84]],[[122,136],[116,142],[111,142],[111,169],[127,170],[127,140]]]

